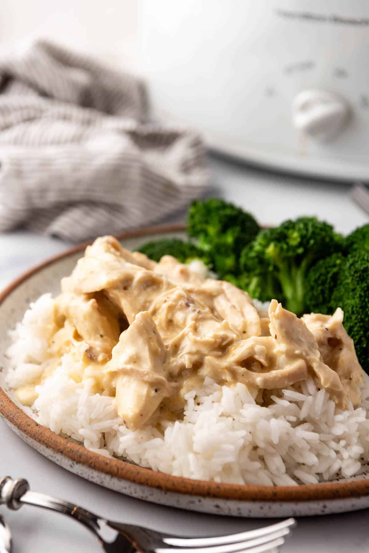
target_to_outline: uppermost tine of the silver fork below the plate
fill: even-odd
[[[218,536],[213,538],[172,538],[171,536],[167,536],[167,538],[163,538],[163,541],[165,544],[174,545],[176,547],[209,547],[211,545],[234,544],[238,541],[259,538],[278,530],[282,530],[283,528],[293,528],[295,525],[295,519],[289,518],[282,520],[282,522],[277,524],[271,524],[269,526],[264,526],[263,528],[248,530],[238,534],[230,534],[228,536]]]

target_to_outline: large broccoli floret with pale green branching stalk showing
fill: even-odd
[[[305,310],[306,273],[319,259],[341,249],[342,238],[331,225],[316,217],[299,217],[259,232],[242,253],[243,269],[259,276],[272,273],[272,289],[277,281],[281,290],[276,298],[300,316]]]

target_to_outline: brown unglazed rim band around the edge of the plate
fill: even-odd
[[[117,234],[119,240],[138,238],[153,234],[183,231],[185,225],[166,225],[159,227],[142,228]],[[2,303],[17,287],[35,273],[42,271],[60,259],[69,257],[77,252],[82,252],[91,242],[84,242],[78,246],[67,249],[65,252],[46,259],[20,275],[0,293],[0,309]],[[46,290],[45,290],[46,291]],[[184,495],[194,495],[213,499],[229,499],[248,502],[316,502],[332,499],[350,499],[369,496],[369,479],[359,479],[350,482],[333,482],[321,484],[301,484],[300,486],[256,486],[249,484],[226,484],[206,482],[171,476],[132,465],[116,458],[107,458],[98,453],[87,450],[84,446],[55,434],[45,426],[41,426],[30,418],[22,409],[8,397],[0,387],[0,415],[6,419],[11,427],[15,427],[30,440],[38,442],[46,449],[69,458],[93,471],[101,472],[109,476],[128,482],[156,488],[163,492],[174,492]]]

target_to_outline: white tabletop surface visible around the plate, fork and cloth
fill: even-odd
[[[287,217],[313,215],[326,218],[342,232],[368,222],[368,216],[349,198],[349,186],[303,181],[263,173],[225,160],[211,161],[214,185],[226,199],[254,212],[264,223]],[[0,234],[0,287],[41,260],[68,246],[56,239],[27,232]],[[24,444],[0,421],[0,475],[25,477],[35,491],[69,499],[113,520],[142,523],[183,535],[210,535],[247,530],[263,520],[221,518],[143,503],[91,484],[66,472]],[[11,525],[15,553],[92,553],[95,538],[63,515],[23,507],[0,512]],[[284,546],[286,553],[362,553],[369,550],[369,513],[311,517],[298,520],[298,528]]]

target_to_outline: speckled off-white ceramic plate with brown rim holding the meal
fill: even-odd
[[[155,237],[184,236],[183,226],[143,229],[118,238],[135,249]],[[349,481],[302,486],[240,486],[169,476],[92,453],[40,426],[17,404],[4,383],[8,330],[22,319],[29,302],[45,292],[58,294],[86,244],[49,259],[15,280],[0,295],[0,415],[27,444],[79,476],[133,497],[205,513],[237,517],[287,517],[339,513],[369,507],[369,468]]]

